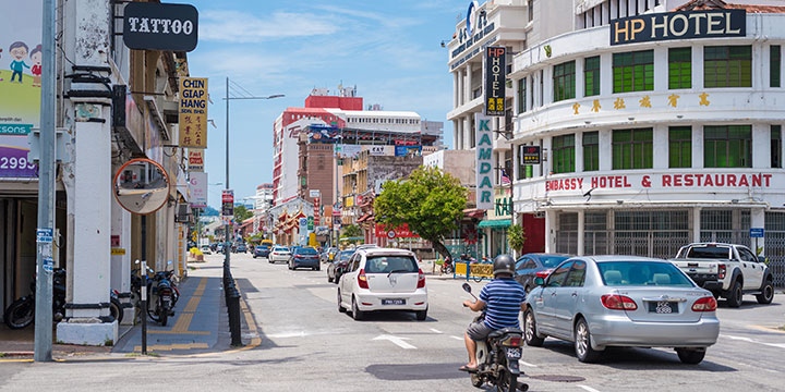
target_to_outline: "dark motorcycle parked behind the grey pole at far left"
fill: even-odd
[[[10,329],[22,329],[35,320],[36,280],[31,282],[31,295],[14,301],[3,314]],[[59,322],[65,317],[65,270],[57,268],[52,275],[52,321]]]

